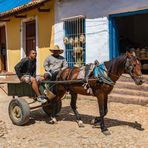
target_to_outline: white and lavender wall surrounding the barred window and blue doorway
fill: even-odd
[[[55,42],[58,38],[58,43],[64,47],[62,19],[83,15],[86,17],[86,63],[95,59],[100,62],[109,60],[109,14],[135,11],[147,6],[148,0],[56,0]]]

